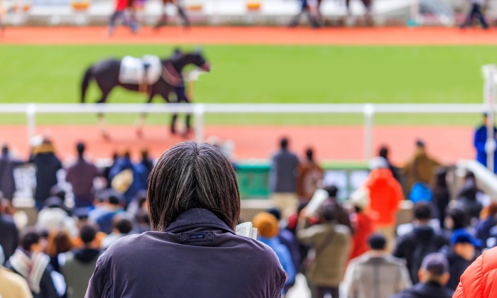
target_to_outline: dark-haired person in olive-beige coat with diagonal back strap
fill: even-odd
[[[337,212],[331,208],[320,209],[315,215],[317,219],[310,219],[304,214],[299,219],[297,238],[310,244],[315,253],[305,270],[312,298],[322,298],[326,293],[338,298],[338,287],[344,277],[351,247],[350,228],[336,223]],[[310,221],[317,221],[318,224],[309,226]]]

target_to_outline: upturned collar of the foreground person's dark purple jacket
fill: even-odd
[[[190,209],[178,216],[173,223],[165,229],[168,233],[178,233],[180,231],[188,230],[191,228],[220,228],[226,232],[234,234],[226,223],[219,219],[212,211],[207,209]]]

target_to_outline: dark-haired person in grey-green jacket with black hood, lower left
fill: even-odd
[[[89,279],[101,254],[93,245],[96,236],[97,230],[93,226],[82,226],[80,240],[83,248],[65,253],[65,263],[61,270],[67,284],[67,298],[84,297],[87,291]]]

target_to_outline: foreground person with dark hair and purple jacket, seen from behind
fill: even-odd
[[[234,233],[240,193],[221,150],[189,141],[165,151],[151,173],[148,208],[152,231],[121,238],[100,256],[87,297],[280,297],[286,276],[278,257]]]

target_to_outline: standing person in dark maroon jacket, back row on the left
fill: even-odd
[[[77,161],[67,169],[65,181],[72,186],[75,199],[75,208],[84,208],[93,205],[93,180],[102,175],[92,162],[84,160],[84,143],[77,143]]]

